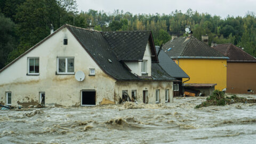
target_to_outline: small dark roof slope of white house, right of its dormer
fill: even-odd
[[[174,77],[171,77],[169,74],[167,74],[166,71],[158,63],[152,63],[151,77],[154,80],[162,80],[162,81],[177,80]]]

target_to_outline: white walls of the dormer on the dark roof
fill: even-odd
[[[147,60],[147,74],[148,76],[151,76],[151,51],[150,51],[150,45],[149,42],[147,43],[146,50],[143,56],[143,60]],[[127,65],[132,71],[131,73],[137,74],[138,76],[141,76],[141,66],[142,62],[125,62],[125,65]]]

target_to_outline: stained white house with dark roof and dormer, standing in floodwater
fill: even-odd
[[[138,102],[173,102],[173,81],[158,65],[151,31],[63,25],[0,70],[0,103],[93,106],[103,98],[118,103],[124,93]]]

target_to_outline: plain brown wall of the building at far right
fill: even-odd
[[[227,92],[256,93],[256,62],[228,62]]]

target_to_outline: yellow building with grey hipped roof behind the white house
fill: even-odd
[[[227,57],[193,36],[175,38],[163,45],[163,51],[190,77],[185,83],[217,84],[227,87]]]

